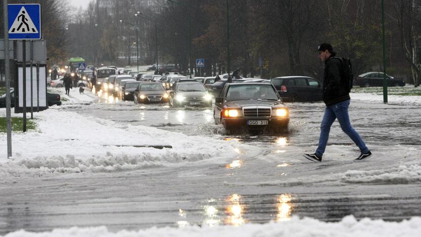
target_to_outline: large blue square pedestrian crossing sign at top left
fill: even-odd
[[[8,5],[9,39],[41,39],[39,4]]]

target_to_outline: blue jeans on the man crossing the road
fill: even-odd
[[[369,151],[367,146],[362,141],[360,135],[351,126],[348,115],[348,107],[350,100],[342,101],[336,104],[326,106],[324,110],[323,120],[320,126],[319,147],[317,147],[316,154],[323,156],[326,149],[327,140],[329,139],[330,127],[335,119],[338,119],[342,130],[355,142],[360,148],[361,152],[366,153]]]

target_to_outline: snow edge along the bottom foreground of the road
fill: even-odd
[[[186,226],[184,228],[156,228],[130,231],[121,230],[110,232],[105,226],[69,229],[54,229],[51,232],[27,232],[19,230],[5,235],[5,237],[140,237],[140,236],[419,236],[421,231],[421,217],[412,217],[401,222],[387,222],[364,218],[356,220],[353,216],[346,216],[340,222],[322,222],[312,218],[293,217],[289,221],[270,222],[267,224],[244,224],[239,227],[215,226],[198,227]]]

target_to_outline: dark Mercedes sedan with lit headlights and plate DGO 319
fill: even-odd
[[[270,83],[227,83],[215,100],[214,119],[227,134],[239,129],[283,133],[289,110]]]

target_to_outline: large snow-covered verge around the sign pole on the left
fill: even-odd
[[[95,97],[75,94],[68,98],[64,107]],[[236,157],[246,147],[208,137],[118,124],[65,111],[63,106],[35,113],[37,131],[13,134],[10,160],[6,159],[6,134],[0,134],[0,176],[112,172],[212,162]],[[4,115],[5,109],[0,109],[0,116]]]

